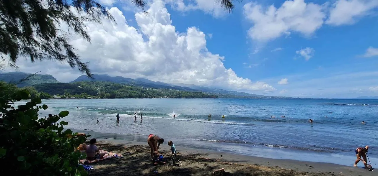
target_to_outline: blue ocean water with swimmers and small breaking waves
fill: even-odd
[[[70,115],[62,118],[68,127],[87,130],[93,137],[101,132],[145,142],[153,133],[176,146],[344,165],[353,165],[355,148],[369,145],[370,161],[378,161],[378,99],[51,99],[42,103],[49,108],[40,111],[41,117],[68,110]]]

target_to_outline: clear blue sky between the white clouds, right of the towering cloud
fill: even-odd
[[[261,80],[282,90],[294,88],[290,86],[291,83],[296,83],[296,86],[299,86],[301,82],[316,81],[315,85],[311,85],[316,86],[316,89],[311,89],[315,95],[309,95],[309,97],[322,97],[321,94],[324,94],[324,97],[354,97],[361,93],[352,93],[353,90],[378,86],[377,74],[358,76],[366,72],[378,71],[378,54],[375,57],[362,57],[370,46],[378,48],[376,8],[356,16],[353,18],[354,23],[352,24],[339,26],[323,24],[310,36],[292,32],[288,37],[280,36],[261,43],[248,37],[248,29],[253,23],[245,18],[243,6],[249,2],[251,1],[235,3],[234,12],[222,17],[214,17],[214,15],[201,10],[177,11],[170,5],[167,5],[167,9],[171,14],[172,25],[176,26],[178,31],[185,32],[188,26],[195,26],[204,33],[211,34],[212,37],[207,39],[209,51],[224,56],[225,67],[232,68],[238,76],[243,78]],[[253,2],[265,7],[274,5],[279,8],[285,0]],[[322,5],[335,1],[307,0],[305,2]],[[127,12],[125,13],[127,14]],[[309,60],[296,54],[296,51],[307,47],[314,50],[314,54]],[[256,48],[259,51],[254,53]],[[356,75],[356,77],[349,74]],[[332,76],[340,75],[342,78],[329,80]],[[352,80],[349,80],[348,77]],[[290,78],[289,84],[277,84],[277,79],[282,78]],[[359,84],[355,85],[356,81]],[[332,91],[330,95],[326,95],[327,91],[321,90],[322,88],[338,88],[338,86],[342,90],[344,89],[342,86],[347,86],[351,90],[344,93]],[[301,85],[301,87],[307,86]],[[279,94],[275,93],[274,95]],[[378,96],[376,92],[366,92],[363,95]]]

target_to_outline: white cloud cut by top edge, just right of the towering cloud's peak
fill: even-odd
[[[216,0],[191,0],[189,2],[186,1],[187,3],[184,0],[165,0],[165,2],[170,3],[178,11],[201,10],[216,18],[227,14],[220,5],[220,2]]]

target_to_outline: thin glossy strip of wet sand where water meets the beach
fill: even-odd
[[[77,130],[71,128],[71,130],[91,134],[90,138],[96,138],[98,140],[113,140],[116,143],[127,143],[127,142],[142,142],[146,141],[147,136],[142,134],[117,134],[117,133],[102,133],[93,130]],[[164,137],[163,137],[164,138]],[[168,141],[168,139],[166,139]],[[187,143],[182,143],[176,141],[175,139],[169,139],[175,142],[176,146],[182,148],[188,148],[198,151],[207,151],[210,153],[229,153],[229,154],[239,154],[241,156],[247,157],[259,157],[265,159],[278,159],[278,160],[292,160],[299,162],[315,162],[315,163],[328,163],[344,165],[346,167],[352,167],[355,161],[355,155],[342,155],[338,153],[324,153],[319,151],[305,151],[296,150],[291,148],[271,148],[263,146],[250,147],[249,145],[234,145],[234,144],[222,144],[219,142],[207,142],[207,141],[187,141]],[[117,142],[118,141],[118,142]],[[224,145],[227,145],[226,147]],[[230,146],[232,145],[232,146]],[[207,146],[207,147],[205,147]],[[229,150],[231,148],[231,150]],[[247,151],[246,151],[247,150]],[[374,156],[370,157],[373,161],[376,159]],[[373,168],[375,164],[372,164]]]

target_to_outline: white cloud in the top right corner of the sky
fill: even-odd
[[[333,3],[326,23],[335,26],[351,25],[377,7],[377,0],[338,0]]]

